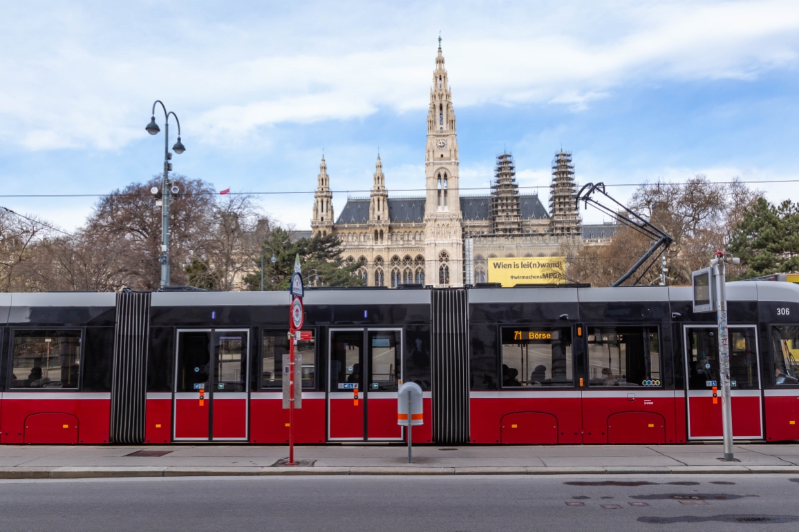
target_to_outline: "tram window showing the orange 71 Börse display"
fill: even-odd
[[[503,388],[574,386],[571,329],[503,327]]]

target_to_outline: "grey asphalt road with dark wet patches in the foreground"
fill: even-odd
[[[799,530],[799,478],[483,475],[4,480],[0,481],[0,530]]]

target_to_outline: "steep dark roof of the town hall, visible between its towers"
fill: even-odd
[[[460,198],[460,211],[464,220],[487,220],[491,196],[462,196]],[[369,221],[369,199],[348,199],[341,210],[336,223],[367,223]],[[423,222],[424,204],[426,200],[419,198],[389,198],[388,218],[392,223]],[[547,209],[541,203],[538,195],[519,195],[519,208],[522,219],[549,218]]]

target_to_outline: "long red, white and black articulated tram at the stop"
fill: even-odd
[[[799,286],[728,285],[733,435],[799,439]],[[296,442],[721,439],[687,287],[308,290]],[[0,294],[0,443],[286,443],[288,294]],[[355,393],[357,391],[357,394]],[[356,399],[357,395],[357,399]]]

